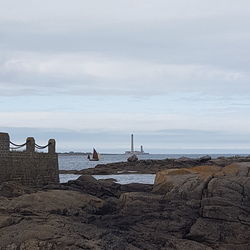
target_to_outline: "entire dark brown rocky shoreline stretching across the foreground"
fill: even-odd
[[[42,188],[2,183],[0,249],[250,249],[249,157],[129,164],[104,168],[147,165],[140,173],[157,173],[155,184],[90,175]]]

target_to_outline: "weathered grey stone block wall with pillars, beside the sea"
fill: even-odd
[[[0,145],[3,144],[1,138],[5,139],[6,144],[6,135],[1,135],[3,133],[0,133]],[[28,186],[59,183],[58,155],[53,150],[55,142],[49,146],[48,153],[39,153],[30,151],[27,145],[23,152],[6,150],[2,145],[4,150],[0,150],[0,183],[16,181]]]

